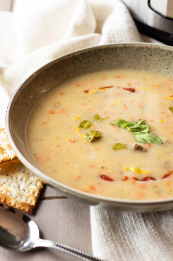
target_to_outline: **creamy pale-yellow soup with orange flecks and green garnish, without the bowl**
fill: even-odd
[[[173,80],[116,70],[64,82],[34,108],[26,139],[41,169],[73,188],[173,197]]]

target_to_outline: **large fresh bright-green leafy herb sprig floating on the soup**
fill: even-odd
[[[149,134],[148,124],[143,119],[140,119],[137,123],[118,119],[117,121],[112,121],[111,124],[133,132],[134,138],[141,143],[162,144],[162,140],[158,136]]]

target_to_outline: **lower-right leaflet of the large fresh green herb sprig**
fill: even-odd
[[[153,134],[148,133],[133,133],[134,138],[142,143],[156,143],[156,144],[162,144],[162,140]]]

